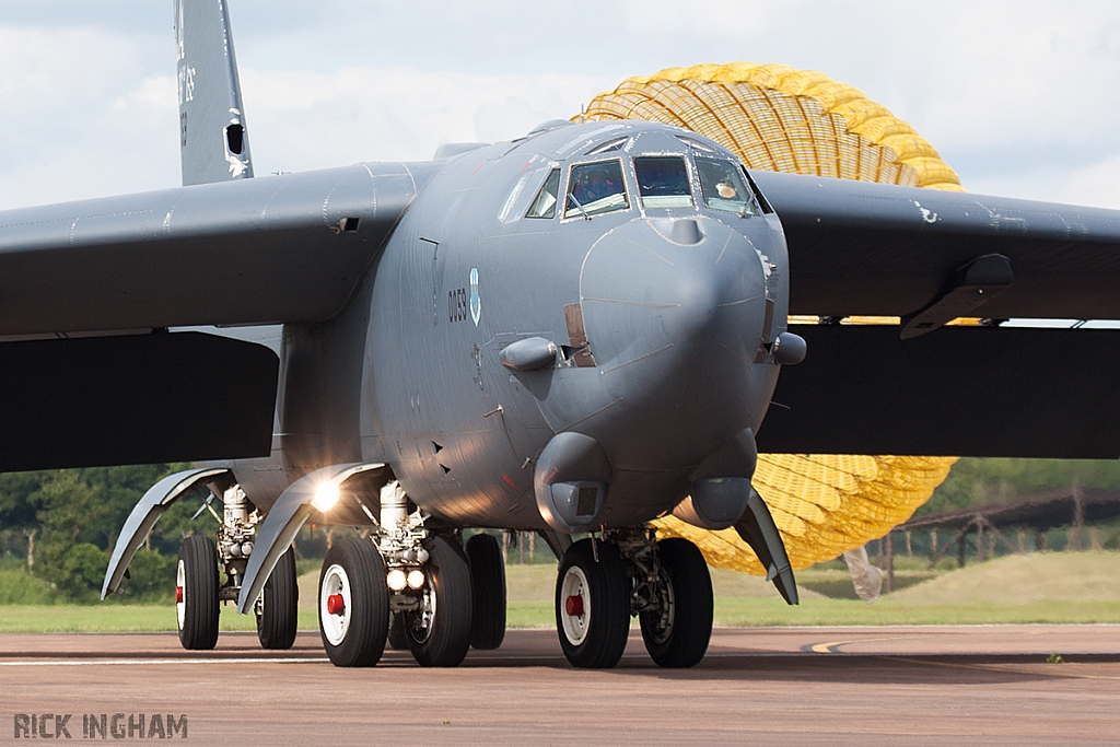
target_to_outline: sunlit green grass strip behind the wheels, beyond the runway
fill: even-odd
[[[921,575],[909,572],[909,577]],[[1120,623],[1120,553],[1116,552],[1010,555],[915,581],[871,605],[813,590],[846,592],[844,576],[838,569],[801,571],[801,605],[790,607],[763,579],[716,570],[716,624]],[[300,576],[301,629],[318,627],[317,582],[315,571]],[[552,627],[554,582],[554,566],[511,566],[510,626]],[[252,615],[236,615],[230,604],[223,607],[221,625],[223,631],[251,631],[255,622]],[[0,606],[0,632],[6,633],[174,629],[175,610],[170,604]]]

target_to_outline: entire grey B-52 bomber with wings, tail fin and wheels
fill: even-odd
[[[225,3],[175,13],[184,186],[0,212],[0,468],[197,464],[136,506],[102,591],[205,495],[187,648],[234,600],[291,646],[311,521],[366,530],[320,573],[338,666],[498,646],[476,529],[554,551],[572,664],[616,664],[637,616],[692,666],[708,568],[650,522],[734,527],[795,604],[759,449],[1120,456],[1118,333],[1000,325],[1120,318],[1118,212],[748,170],[640,121],[252,178]],[[828,324],[850,315],[902,324]]]

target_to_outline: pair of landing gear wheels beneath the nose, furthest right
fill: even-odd
[[[687,540],[607,531],[564,553],[557,578],[560,647],[575,666],[606,669],[622,659],[629,618],[642,625],[659,666],[693,666],[711,639],[711,576]]]

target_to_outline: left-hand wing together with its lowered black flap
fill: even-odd
[[[432,168],[0,212],[0,471],[268,455],[276,353],[149,333],[329,319]]]

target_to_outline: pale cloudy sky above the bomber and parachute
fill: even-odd
[[[1120,209],[1120,3],[230,0],[258,174],[422,160],[632,75],[783,63],[909,122],[970,192]],[[0,0],[0,208],[179,184],[171,0]]]

